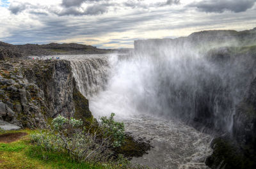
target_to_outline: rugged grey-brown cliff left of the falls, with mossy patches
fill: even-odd
[[[88,100],[76,90],[69,61],[10,59],[1,61],[0,67],[1,120],[22,128],[44,128],[58,114],[92,119]],[[77,108],[77,101],[84,109]]]

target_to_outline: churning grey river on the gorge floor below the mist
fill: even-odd
[[[172,119],[136,115],[123,121],[126,131],[150,140],[153,146],[148,154],[133,158],[133,163],[163,169],[208,168],[205,158],[212,153],[211,136]]]

